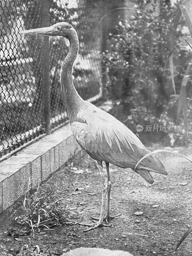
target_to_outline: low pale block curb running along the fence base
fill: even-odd
[[[0,163],[0,212],[25,194],[29,177],[41,184],[79,150],[67,124]]]

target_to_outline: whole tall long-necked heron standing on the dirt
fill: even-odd
[[[73,84],[72,71],[79,51],[76,30],[67,22],[59,22],[50,27],[29,29],[22,34],[41,34],[44,36],[64,36],[69,40],[69,51],[60,69],[60,85],[63,102],[66,106],[73,135],[80,145],[94,160],[100,171],[102,182],[102,202],[100,218],[93,218],[94,223],[83,232],[99,227],[111,227],[110,219],[120,215],[110,215],[111,180],[109,164],[134,170],[137,162],[150,151],[145,148],[139,138],[123,123],[109,113],[83,100]],[[107,180],[103,169],[106,165]],[[163,163],[157,156],[151,155],[143,159],[137,166],[136,173],[148,183],[154,182],[150,172],[167,175]],[[107,197],[107,213],[104,207]]]

